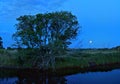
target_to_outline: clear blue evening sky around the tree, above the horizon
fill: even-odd
[[[0,0],[0,36],[5,47],[11,46],[17,17],[63,10],[76,15],[82,26],[70,47],[114,47],[120,45],[119,4],[120,0]]]

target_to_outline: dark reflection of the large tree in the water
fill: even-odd
[[[63,77],[29,77],[18,78],[16,84],[65,84]]]

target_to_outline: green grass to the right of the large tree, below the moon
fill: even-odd
[[[111,52],[112,51],[112,52]],[[78,66],[80,68],[94,65],[120,63],[120,52],[116,50],[84,50],[76,51],[65,57],[57,57],[56,67]]]

